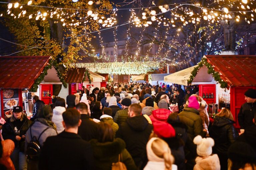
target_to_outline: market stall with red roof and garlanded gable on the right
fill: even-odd
[[[206,55],[191,73],[192,84],[200,84],[199,95],[208,93],[208,98],[204,98],[208,104],[218,103],[222,107],[224,99],[228,107],[227,101],[230,101],[235,127],[240,128],[237,115],[246,102],[244,93],[250,88],[256,89],[256,55]],[[209,93],[213,93],[214,98],[209,99]],[[230,95],[230,99],[226,95]]]

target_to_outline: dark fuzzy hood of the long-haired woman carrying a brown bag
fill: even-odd
[[[112,155],[118,155],[125,149],[125,142],[116,138],[113,142],[100,143],[97,139],[90,140],[90,144],[93,148],[95,158],[101,158],[103,156],[108,157]]]

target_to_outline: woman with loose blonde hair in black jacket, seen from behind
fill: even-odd
[[[230,110],[222,109],[220,113],[215,116],[209,131],[210,137],[212,137],[215,142],[213,153],[218,154],[221,169],[227,169],[228,148],[238,137],[238,132],[233,126],[234,123],[234,118]]]

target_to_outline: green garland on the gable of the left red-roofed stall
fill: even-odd
[[[49,62],[47,63],[47,65],[44,67],[43,72],[40,74],[40,76],[37,79],[35,79],[34,84],[30,88],[30,91],[31,92],[37,91],[38,85],[44,80],[44,77],[47,75],[48,69],[51,69],[52,66],[54,66],[55,70],[57,71],[57,75],[58,75],[60,81],[62,82],[64,88],[67,88],[67,83],[64,80],[64,76],[59,72],[57,65],[58,65],[58,63],[56,60],[53,61],[52,59],[50,59]]]

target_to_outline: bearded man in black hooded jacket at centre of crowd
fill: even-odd
[[[125,141],[126,149],[131,154],[134,163],[141,168],[146,155],[146,144],[153,126],[141,115],[139,104],[132,104],[128,108],[128,118],[119,126],[116,137]]]

